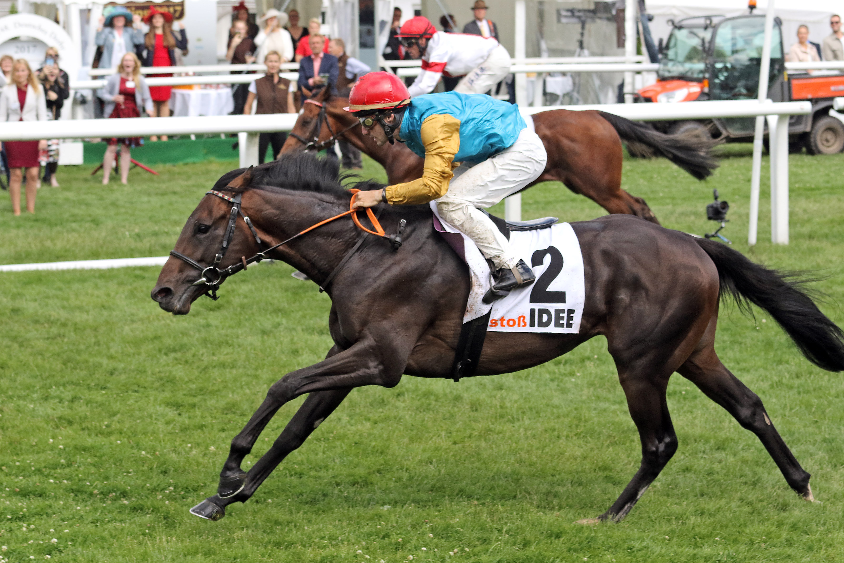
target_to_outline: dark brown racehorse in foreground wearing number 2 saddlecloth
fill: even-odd
[[[357,187],[380,189],[372,183]],[[349,192],[338,181],[337,165],[311,154],[231,171],[214,190],[225,198],[209,193],[202,199],[176,242],[179,256],[165,263],[152,290],[152,298],[165,311],[186,315],[191,310],[192,302],[208,290],[207,284],[197,285],[200,270],[203,278],[222,282],[227,271],[241,269],[246,257],[268,252],[270,246],[349,209]],[[469,291],[467,268],[432,229],[428,206],[379,207],[388,232],[399,219],[407,221],[403,246],[394,251],[389,242],[364,235],[360,250],[327,284],[333,348],[325,360],[293,371],[270,387],[261,407],[231,442],[217,495],[192,509],[197,516],[217,520],[225,515],[225,506],[248,500],[354,387],[395,387],[403,374],[453,376],[452,359]],[[641,467],[607,512],[585,522],[625,517],[674,455],[677,436],[665,395],[674,371],[754,432],[788,485],[813,500],[809,474],[782,441],[760,398],[715,353],[719,297],[732,295],[768,311],[803,355],[825,370],[844,369],[841,330],[799,284],[728,246],[630,215],[609,215],[572,227],[580,241],[587,287],[580,333],[489,333],[478,375],[524,370],[598,334],[607,338],[639,430]],[[349,256],[360,233],[343,217],[267,256],[284,260],[322,285]],[[230,241],[225,257],[213,268],[224,241]],[[219,270],[224,273],[218,280]],[[303,394],[308,397],[273,446],[243,471],[241,462],[273,414]]]

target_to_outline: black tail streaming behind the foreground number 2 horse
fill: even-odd
[[[844,370],[844,334],[807,295],[795,273],[778,272],[749,261],[720,242],[695,239],[718,268],[721,296],[732,295],[738,306],[749,303],[768,311],[806,359],[827,371]]]

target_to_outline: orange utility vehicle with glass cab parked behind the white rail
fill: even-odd
[[[844,95],[844,74],[786,72],[781,22],[778,18],[775,22],[768,97],[774,101],[812,102],[811,114],[790,117],[789,147],[792,152],[805,147],[809,154],[840,153],[844,150],[844,123],[832,111],[832,100]],[[639,90],[637,101],[670,104],[757,97],[765,16],[706,16],[682,19],[672,25],[664,46],[660,40],[657,83]],[[731,118],[655,122],[654,127],[663,133],[695,131],[711,138],[746,143],[753,140],[754,122],[754,118]]]

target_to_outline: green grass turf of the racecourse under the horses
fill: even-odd
[[[747,151],[724,148],[704,183],[664,160],[628,159],[624,186],[663,225],[699,234],[713,228],[704,206],[717,187],[732,205],[726,235],[748,252]],[[828,276],[816,287],[841,323],[844,155],[791,163],[792,243],[768,242],[766,160],[749,255]],[[234,166],[162,165],[158,177],[133,171],[128,187],[101,187],[90,166],[62,168],[35,215],[13,218],[0,198],[0,263],[163,256]],[[379,174],[367,160],[365,175]],[[602,210],[559,185],[526,192],[525,218],[547,214]],[[9,563],[844,560],[841,375],[798,356],[764,312],[754,322],[734,308],[722,310],[717,350],[766,402],[819,502],[794,495],[755,436],[674,376],[674,459],[624,522],[573,523],[607,509],[640,455],[606,341],[594,338],[517,374],[355,390],[252,501],[220,522],[190,516],[268,386],[330,346],[327,296],[290,273],[250,268],[187,317],[149,300],[157,268],[0,274]],[[279,411],[246,467],[300,402]]]

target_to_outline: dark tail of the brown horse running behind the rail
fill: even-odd
[[[614,127],[631,152],[646,156],[661,154],[698,180],[711,176],[712,171],[718,167],[717,160],[711,155],[711,149],[718,144],[717,141],[702,138],[695,133],[666,135],[644,123],[631,122],[604,111],[598,113]]]

